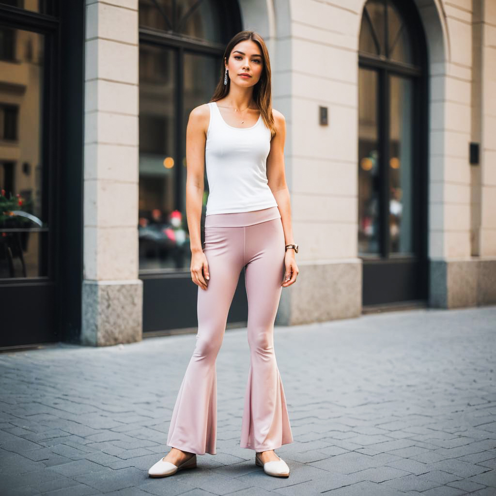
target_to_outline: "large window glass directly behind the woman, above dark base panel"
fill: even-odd
[[[237,2],[139,1],[139,268],[187,271],[186,125],[220,77]],[[208,183],[205,181],[201,225]]]

